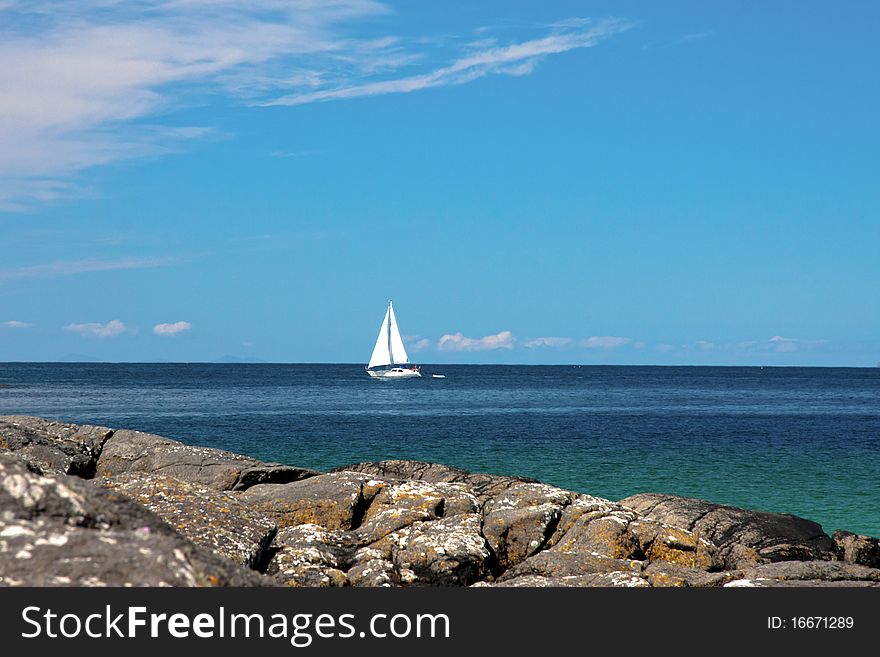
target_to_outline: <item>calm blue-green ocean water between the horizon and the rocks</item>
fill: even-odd
[[[446,379],[432,379],[432,372]],[[880,536],[880,368],[0,364],[0,414],[317,469],[410,458]]]

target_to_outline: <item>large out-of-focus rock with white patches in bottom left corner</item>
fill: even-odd
[[[46,477],[0,455],[0,584],[263,586],[140,504],[76,477]]]

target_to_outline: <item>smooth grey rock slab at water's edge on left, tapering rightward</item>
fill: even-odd
[[[126,472],[161,474],[214,490],[246,490],[255,484],[285,483],[317,474],[141,431],[120,430],[104,444],[96,474],[111,477]]]

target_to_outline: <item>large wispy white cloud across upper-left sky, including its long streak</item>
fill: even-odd
[[[526,75],[628,27],[561,21],[507,43],[491,29],[470,43],[377,36],[394,16],[374,0],[0,0],[0,211],[82,194],[90,168],[215,134],[151,124],[209,98],[301,105]]]

